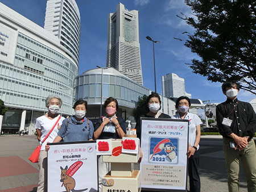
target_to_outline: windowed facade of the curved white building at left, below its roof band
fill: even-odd
[[[0,61],[0,98],[6,106],[44,111],[44,99],[56,94],[63,99],[64,114],[72,114],[77,73],[67,57],[19,32],[14,63]]]

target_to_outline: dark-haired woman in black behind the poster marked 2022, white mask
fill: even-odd
[[[161,109],[161,100],[158,93],[151,92],[150,95],[148,95],[146,102],[142,105],[142,107],[145,108],[145,111],[147,111],[147,114],[143,114],[139,117],[136,123],[136,132],[137,137],[141,139],[141,117],[146,118],[171,118],[169,115],[164,114],[160,112]]]

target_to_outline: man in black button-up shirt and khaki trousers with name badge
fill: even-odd
[[[256,115],[250,103],[238,101],[240,85],[224,82],[222,92],[226,101],[216,107],[217,126],[223,138],[223,151],[228,172],[228,188],[239,191],[238,175],[241,160],[247,190],[256,191],[256,153],[254,140]]]

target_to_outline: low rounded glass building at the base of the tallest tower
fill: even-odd
[[[92,120],[92,122],[96,122],[96,119],[100,118],[101,93],[102,105],[106,98],[116,98],[119,106],[117,115],[122,116],[123,119],[128,119],[132,115],[131,111],[135,107],[138,97],[144,94],[150,95],[151,90],[131,80],[114,68],[87,70],[76,77],[75,98],[76,100],[84,99],[88,102],[86,117]],[[162,112],[169,115],[174,114],[174,101],[161,95],[160,97]],[[102,109],[102,115],[106,115],[104,109]]]

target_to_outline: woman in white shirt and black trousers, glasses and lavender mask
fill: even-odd
[[[188,123],[188,176],[189,176],[189,191],[200,192],[201,182],[198,172],[199,166],[199,142],[201,137],[200,125],[203,124],[201,119],[196,114],[188,112],[191,106],[190,99],[181,96],[175,103],[175,108],[179,113],[171,116],[172,119],[187,119]]]

